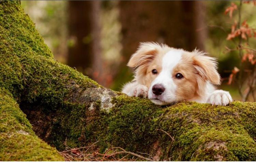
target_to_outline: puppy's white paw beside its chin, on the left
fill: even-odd
[[[122,92],[128,96],[147,98],[148,88],[138,82],[129,82],[124,85]]]

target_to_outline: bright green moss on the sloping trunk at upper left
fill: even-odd
[[[53,59],[34,23],[16,1],[0,3],[0,53],[0,69],[5,69],[0,73],[0,86],[16,98],[26,96],[30,102],[43,98],[57,103],[72,90],[66,86],[70,82],[86,84],[84,88],[99,86]]]

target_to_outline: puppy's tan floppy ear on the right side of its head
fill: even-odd
[[[193,65],[198,71],[198,74],[203,78],[209,80],[212,84],[221,84],[221,77],[217,71],[217,61],[215,58],[205,55],[205,53],[197,50],[193,58]]]

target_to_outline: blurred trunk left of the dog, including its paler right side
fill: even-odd
[[[68,65],[102,85],[100,1],[69,1]]]

